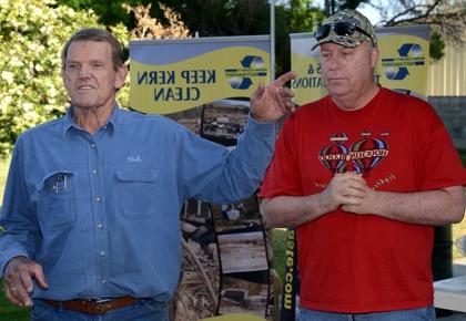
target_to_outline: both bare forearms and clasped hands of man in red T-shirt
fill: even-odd
[[[295,227],[342,206],[344,211],[377,215],[419,225],[458,222],[465,213],[463,186],[415,193],[377,191],[355,173],[337,174],[321,194],[264,199],[266,226]]]

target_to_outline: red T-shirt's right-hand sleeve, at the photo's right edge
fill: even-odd
[[[466,185],[466,172],[442,120],[430,105],[424,128],[418,131],[422,189]]]

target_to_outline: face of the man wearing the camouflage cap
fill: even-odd
[[[365,41],[355,48],[321,44],[322,79],[327,92],[343,97],[372,85],[377,58],[377,50]]]

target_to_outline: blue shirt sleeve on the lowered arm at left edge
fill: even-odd
[[[18,139],[8,174],[0,215],[0,276],[10,259],[18,256],[33,258],[40,238],[39,225],[29,208],[23,179],[21,139]]]

